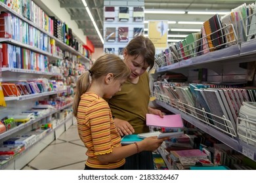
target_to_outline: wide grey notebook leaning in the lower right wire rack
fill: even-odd
[[[234,135],[234,130],[230,130],[230,129],[235,129],[234,127],[236,127],[236,124],[232,124],[231,122],[232,124],[231,125],[229,123],[230,119],[228,117],[228,114],[226,113],[226,108],[224,107],[221,96],[219,95],[219,91],[207,89],[207,90],[203,90],[203,93],[205,95],[207,104],[211,110],[211,113],[215,114],[216,116],[219,116],[218,118],[212,115],[215,126],[220,129],[223,129],[226,132],[232,133]]]

